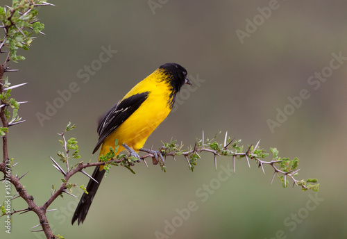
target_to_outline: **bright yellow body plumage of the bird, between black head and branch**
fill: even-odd
[[[124,143],[135,151],[139,151],[144,146],[149,135],[171,111],[169,104],[171,89],[170,85],[163,80],[164,77],[167,76],[164,76],[160,70],[156,70],[126,94],[123,99],[134,94],[149,92],[147,99],[141,106],[105,138],[99,155],[105,155],[110,147],[115,147],[116,138],[120,145],[118,152],[124,150],[124,147],[121,147]]]

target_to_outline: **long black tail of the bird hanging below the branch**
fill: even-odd
[[[92,177],[99,183],[96,183],[96,181],[90,179],[87,185],[88,194],[83,193],[81,200],[78,203],[78,206],[74,213],[74,216],[72,217],[71,224],[74,224],[74,222],[78,220],[78,225],[79,225],[80,223],[83,223],[83,221],[85,220],[85,217],[87,217],[88,210],[90,208],[90,205],[92,204],[96,191],[99,188],[101,180],[103,180],[104,174],[105,174],[105,170],[100,170],[100,167],[95,167]]]

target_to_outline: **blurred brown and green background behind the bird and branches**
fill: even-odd
[[[249,169],[244,160],[237,162],[235,175],[221,181],[218,176],[227,175],[221,165],[228,167],[230,160],[219,159],[216,172],[210,154],[201,154],[193,173],[185,158],[169,158],[167,173],[143,163],[135,166],[135,175],[113,167],[83,225],[71,226],[78,199],[65,195],[54,201],[49,209],[58,211],[48,213],[53,233],[65,238],[346,238],[346,60],[329,72],[332,53],[347,56],[346,1],[152,2],[157,8],[147,0],[62,0],[40,8],[46,35],[39,35],[30,51],[20,51],[27,60],[11,63],[20,72],[8,74],[12,84],[28,82],[13,91],[15,99],[30,101],[19,111],[26,123],[11,128],[8,137],[10,157],[20,162],[14,172],[29,171],[22,183],[36,203],[43,204],[51,185],[61,183],[49,160],[61,150],[56,133],[68,122],[76,124],[67,137],[77,138],[85,162],[96,161],[91,152],[98,118],[168,62],[202,80],[184,87],[181,104],[146,147],[171,138],[188,147],[203,130],[210,138],[223,131],[221,141],[228,131],[243,145],[261,139],[266,150],[277,147],[280,156],[300,158],[298,179],[317,178],[320,190],[284,189],[279,180],[269,186],[271,168],[265,167],[264,175],[255,162]],[[266,12],[270,3],[271,13]],[[258,26],[252,28],[247,19]],[[251,33],[242,44],[237,30],[246,33],[246,24]],[[97,65],[101,47],[109,46],[117,53]],[[78,72],[92,64],[98,70],[83,82]],[[330,75],[315,90],[307,80],[323,69]],[[58,90],[69,89],[71,82],[78,92],[40,124],[37,113],[45,114],[47,102],[58,102]],[[276,109],[293,109],[288,97],[303,89],[310,97],[271,132],[266,121],[276,121]],[[87,181],[83,174],[71,179],[78,185]],[[215,190],[207,194],[203,185]],[[81,196],[81,190],[74,194]],[[187,213],[189,202],[195,206]],[[16,199],[12,207],[25,204]],[[30,232],[36,224],[34,213],[15,215],[12,233],[1,229],[0,237],[44,238]]]

